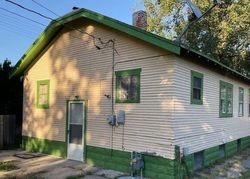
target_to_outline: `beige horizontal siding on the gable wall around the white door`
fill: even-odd
[[[66,102],[78,95],[88,100],[87,145],[154,152],[174,158],[170,122],[176,57],[125,34],[92,22],[84,23],[85,26],[77,28],[103,41],[115,39],[119,53],[115,54],[116,71],[142,69],[140,103],[115,105],[115,111],[126,112],[124,137],[123,126],[119,126],[114,128],[112,139],[112,127],[106,122],[111,114],[111,101],[104,94],[111,94],[112,49],[97,50],[89,36],[66,30],[26,71],[23,135],[65,141]],[[145,58],[157,55],[164,56]],[[135,60],[138,58],[145,59]],[[44,79],[50,80],[50,106],[39,109],[36,108],[36,82]]]

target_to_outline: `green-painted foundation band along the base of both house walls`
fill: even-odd
[[[238,149],[250,147],[250,137],[244,137],[225,144],[225,157],[231,157]],[[59,157],[67,157],[66,142],[38,139],[23,136],[22,148],[28,151],[41,152]],[[86,162],[101,168],[113,169],[125,173],[131,172],[130,152],[111,150],[106,148],[86,146]],[[194,154],[189,154],[180,160],[180,150],[176,147],[175,160],[166,159],[148,154],[143,155],[145,169],[143,176],[157,179],[187,178],[194,172]],[[219,146],[205,149],[203,151],[203,167],[213,165],[219,159]],[[140,173],[138,172],[138,175]]]

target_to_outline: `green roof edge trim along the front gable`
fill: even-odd
[[[47,26],[47,28],[41,33],[41,35],[35,40],[35,42],[30,46],[26,53],[21,57],[21,59],[17,62],[14,69],[10,73],[10,78],[21,75],[35,60],[37,55],[39,55],[39,53],[51,42],[53,37],[57,34],[57,32],[64,24],[79,18],[87,18],[93,20],[97,23],[109,26],[137,39],[141,39],[152,45],[158,46],[162,49],[180,55],[181,48],[177,43],[173,41],[167,40],[163,37],[157,36],[145,30],[141,30],[137,27],[120,22],[113,18],[82,8],[79,10],[72,11],[52,21]]]

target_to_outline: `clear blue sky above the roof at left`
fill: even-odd
[[[75,6],[101,13],[128,24],[132,24],[132,13],[134,10],[144,9],[143,5],[140,3],[140,0],[11,1],[26,8],[35,10],[36,12],[49,16],[53,19],[58,18],[58,16],[55,14],[62,16],[72,11],[72,7]],[[34,1],[52,10],[55,14],[42,8]],[[22,17],[20,17],[20,15]],[[49,24],[49,22],[50,20],[28,12],[5,0],[0,0],[0,63],[8,58],[12,65],[15,65],[29,48],[29,46]]]

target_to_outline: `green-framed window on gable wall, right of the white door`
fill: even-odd
[[[140,102],[140,73],[141,69],[115,72],[116,103]]]

